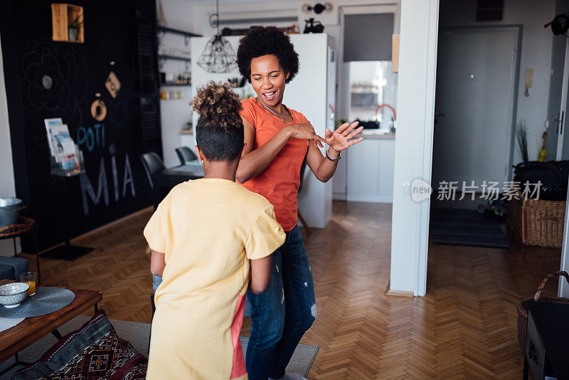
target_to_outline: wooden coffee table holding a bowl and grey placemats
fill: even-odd
[[[14,283],[12,280],[0,280],[0,285]],[[44,286],[44,285],[40,285]],[[46,285],[47,286],[47,285]],[[62,286],[64,287],[64,286]],[[52,333],[56,338],[61,339],[58,327],[73,320],[90,307],[98,310],[98,303],[102,300],[102,293],[94,290],[78,290],[65,287],[75,293],[75,300],[63,309],[39,317],[29,317],[16,326],[0,332],[0,362],[16,355],[16,363],[10,366],[13,368],[18,364],[27,364],[18,360],[18,352],[28,347],[33,342]],[[3,306],[0,306],[3,307]],[[6,369],[7,371],[8,369]]]

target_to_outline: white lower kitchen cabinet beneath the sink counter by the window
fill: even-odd
[[[392,203],[395,137],[363,137],[340,160],[334,175],[334,199]]]

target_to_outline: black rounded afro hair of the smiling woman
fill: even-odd
[[[290,37],[275,26],[257,26],[250,29],[239,40],[237,49],[237,65],[243,78],[251,82],[251,60],[272,54],[289,78],[289,83],[299,70],[298,53],[290,42]]]

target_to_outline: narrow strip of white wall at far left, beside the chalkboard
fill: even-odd
[[[12,164],[6,84],[4,83],[4,60],[0,44],[0,198],[9,198],[11,196],[16,196],[16,186],[14,184],[14,165]],[[19,251],[19,242],[17,248]],[[11,239],[0,241],[0,255],[14,255],[14,246]]]

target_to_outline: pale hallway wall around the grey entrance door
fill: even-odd
[[[529,159],[535,160],[547,120],[553,44],[551,28],[543,28],[543,25],[555,16],[555,0],[504,0],[503,20],[486,23],[475,21],[476,6],[477,0],[441,0],[440,27],[513,24],[523,26],[516,122],[526,120]],[[529,97],[525,97],[523,93],[528,68],[533,68],[533,87],[529,90]],[[521,155],[517,144],[514,144],[512,163],[515,165],[519,162]]]

